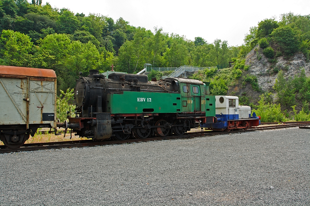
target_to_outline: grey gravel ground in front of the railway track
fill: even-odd
[[[0,205],[310,205],[310,130],[0,154]]]

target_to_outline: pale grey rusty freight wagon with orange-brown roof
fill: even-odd
[[[38,128],[56,129],[56,74],[52,69],[0,65],[0,140],[18,148]]]

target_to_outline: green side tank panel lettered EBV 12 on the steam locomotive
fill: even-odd
[[[108,94],[107,100],[111,114],[177,113],[181,109],[179,93],[124,91]]]

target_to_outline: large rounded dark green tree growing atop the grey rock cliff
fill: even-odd
[[[299,42],[291,27],[279,27],[271,33],[271,36],[272,40],[280,46],[280,50],[286,55],[297,52]]]

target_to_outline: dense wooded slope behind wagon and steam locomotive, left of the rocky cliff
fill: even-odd
[[[228,64],[239,49],[227,41],[195,41],[184,36],[134,27],[123,18],[74,14],[42,1],[0,1],[0,64],[53,69],[57,91],[75,86],[78,72],[89,69],[137,73],[144,63],[153,67]]]

